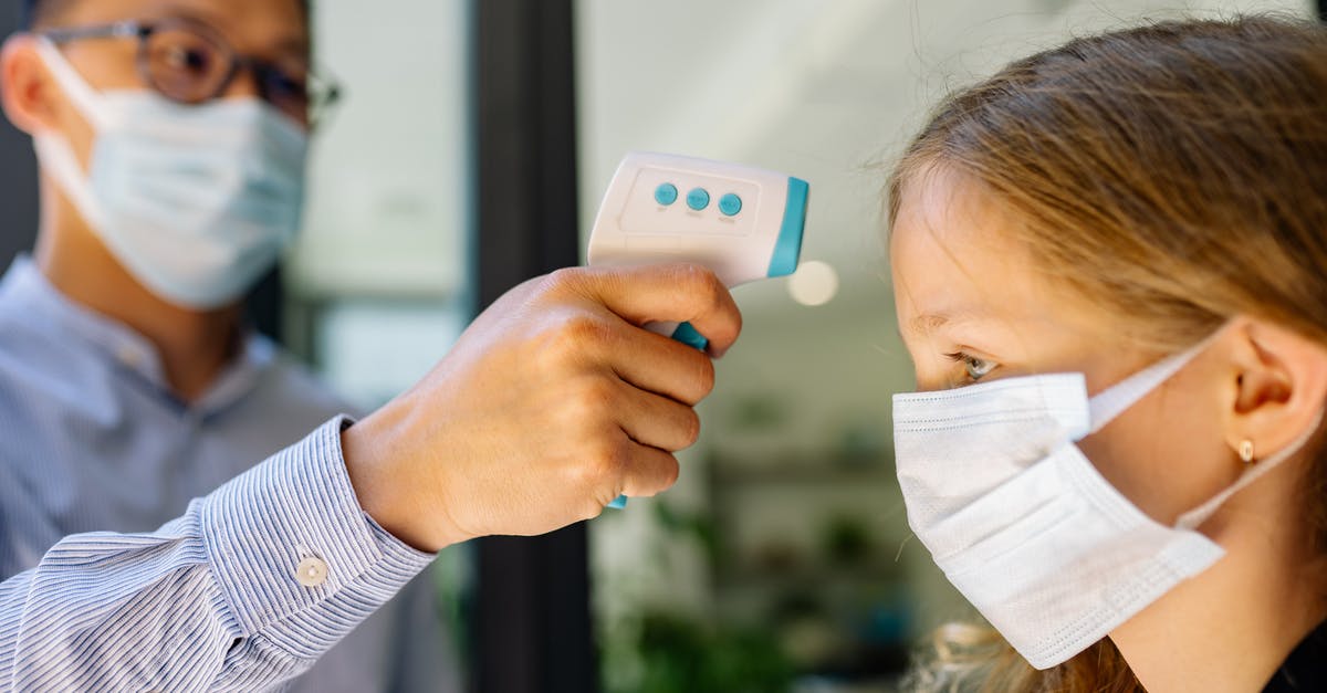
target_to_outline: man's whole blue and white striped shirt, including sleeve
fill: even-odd
[[[431,584],[411,581],[431,556],[360,510],[338,410],[259,337],[179,402],[150,344],[19,260],[0,283],[0,690],[263,690],[342,637],[292,688],[454,690]]]

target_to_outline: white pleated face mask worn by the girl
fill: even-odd
[[[1074,443],[1208,344],[1091,400],[1080,373],[894,396],[909,524],[954,587],[1032,666],[1064,662],[1216,563],[1225,551],[1196,527],[1316,430],[1262,459],[1174,527],[1147,516]]]

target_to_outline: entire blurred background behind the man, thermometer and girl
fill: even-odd
[[[882,244],[890,158],[1013,57],[1177,15],[1308,0],[316,0],[346,100],[307,228],[255,323],[345,397],[413,384],[503,289],[580,262],[628,150],[811,182],[803,271],[736,291],[678,487],[543,539],[449,550],[472,690],[886,692],[962,600],[909,540],[889,396],[912,388]],[[12,25],[11,25],[12,27]],[[4,259],[31,247],[31,145],[0,133]]]

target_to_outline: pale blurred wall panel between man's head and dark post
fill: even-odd
[[[320,0],[318,62],[345,98],[317,133],[292,288],[447,297],[468,183],[464,0]]]

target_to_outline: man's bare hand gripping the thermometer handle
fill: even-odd
[[[641,329],[690,321],[710,354]],[[342,433],[360,503],[426,551],[536,535],[654,495],[693,445],[711,356],[738,337],[698,266],[563,270],[484,311],[423,381]]]

